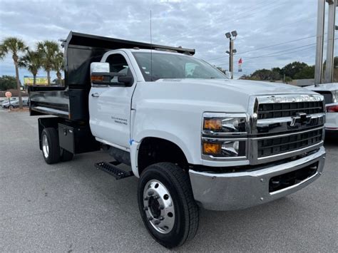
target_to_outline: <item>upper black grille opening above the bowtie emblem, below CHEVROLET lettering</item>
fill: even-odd
[[[324,111],[322,101],[293,102],[293,103],[263,103],[258,107],[257,118],[283,118],[291,117],[296,113],[315,114]]]

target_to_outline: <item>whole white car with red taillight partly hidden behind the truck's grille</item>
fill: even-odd
[[[305,88],[324,96],[327,111],[325,130],[338,133],[338,83],[322,83]]]

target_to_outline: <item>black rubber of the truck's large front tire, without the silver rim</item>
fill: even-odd
[[[170,193],[175,210],[175,223],[168,234],[158,232],[144,210],[143,191],[150,180],[161,182]],[[138,181],[138,207],[140,215],[153,238],[164,247],[178,247],[189,239],[193,239],[198,230],[198,205],[193,197],[190,179],[178,165],[160,162],[146,167]]]

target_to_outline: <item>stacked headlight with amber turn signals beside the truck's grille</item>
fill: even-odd
[[[205,158],[246,158],[245,113],[204,113],[202,133],[202,152]]]

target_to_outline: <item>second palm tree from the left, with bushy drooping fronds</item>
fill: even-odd
[[[33,85],[36,85],[36,75],[41,68],[42,53],[27,49],[26,54],[20,58],[19,67],[27,68],[33,74]]]

